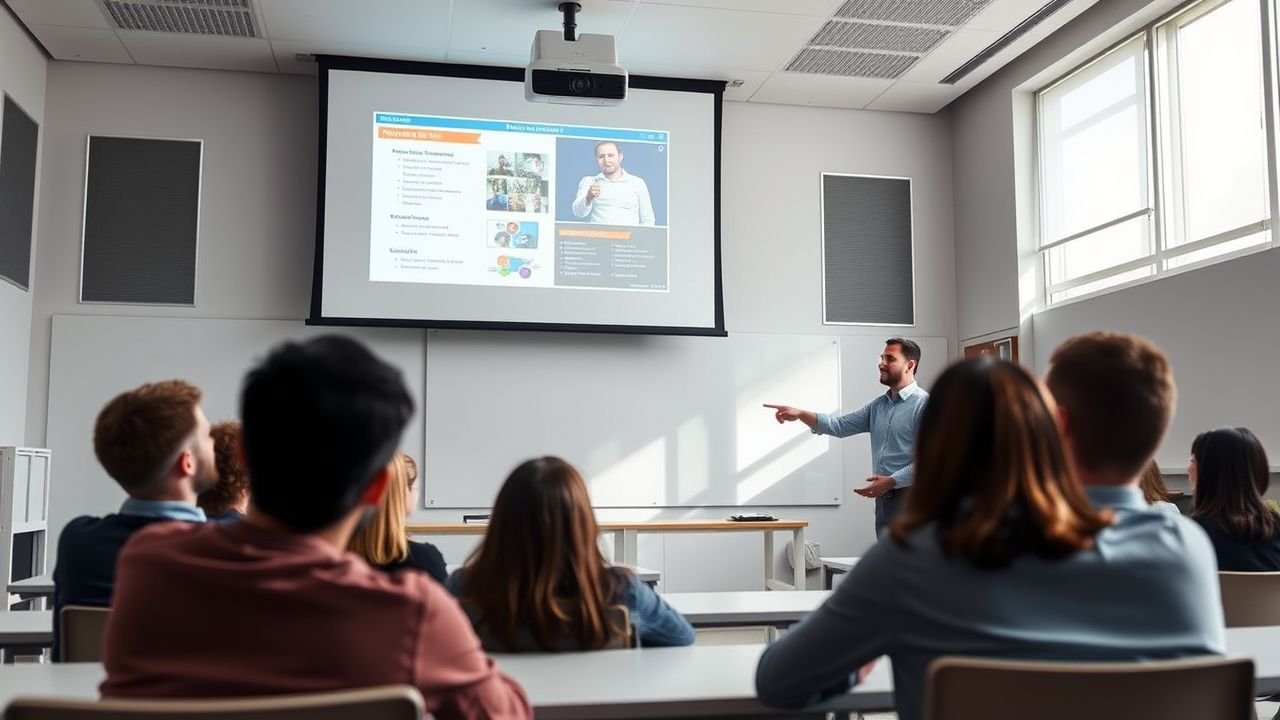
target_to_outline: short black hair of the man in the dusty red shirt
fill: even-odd
[[[399,370],[342,336],[285,342],[244,378],[253,506],[298,532],[349,512],[413,414]]]

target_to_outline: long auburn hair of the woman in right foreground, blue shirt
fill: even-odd
[[[1071,477],[1052,400],[1012,363],[947,368],[920,416],[915,480],[891,537],[937,523],[948,556],[1002,568],[1020,555],[1055,559],[1092,547],[1110,519]]]

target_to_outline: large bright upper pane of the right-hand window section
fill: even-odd
[[[1178,28],[1185,232],[1194,242],[1268,217],[1257,0],[1231,0]]]

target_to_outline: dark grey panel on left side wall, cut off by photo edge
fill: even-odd
[[[28,290],[40,126],[8,95],[0,123],[0,277]]]

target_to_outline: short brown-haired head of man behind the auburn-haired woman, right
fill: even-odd
[[[1066,410],[1064,432],[1076,468],[1128,478],[1156,454],[1178,398],[1165,354],[1123,333],[1068,340],[1050,357],[1044,380]]]

